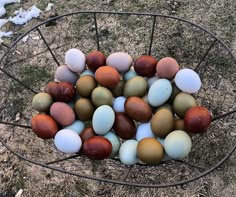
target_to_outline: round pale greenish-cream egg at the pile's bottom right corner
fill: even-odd
[[[164,141],[166,153],[173,159],[183,159],[191,151],[192,141],[190,136],[181,130],[168,134]]]

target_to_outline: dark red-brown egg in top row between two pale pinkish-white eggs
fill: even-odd
[[[92,71],[96,71],[99,67],[105,66],[106,56],[100,51],[92,51],[86,58],[86,64]]]

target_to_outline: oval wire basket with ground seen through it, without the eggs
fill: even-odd
[[[195,95],[213,114],[208,131],[192,137],[183,160],[151,166],[126,166],[118,159],[91,161],[56,150],[53,140],[37,138],[30,127],[31,100],[53,80],[70,48],[106,55],[125,51],[175,58],[181,68],[194,69],[202,79]],[[1,143],[19,158],[81,178],[139,187],[182,185],[206,176],[234,152],[236,130],[236,58],[208,30],[167,15],[130,12],[78,11],[51,18],[19,36],[0,60]],[[20,113],[19,113],[20,112]],[[21,118],[15,119],[16,114]]]

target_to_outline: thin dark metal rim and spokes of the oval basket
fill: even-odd
[[[10,53],[11,49],[27,34],[29,34],[31,31],[33,30],[37,30],[39,35],[41,36],[43,42],[45,43],[47,49],[49,50],[50,54],[52,55],[55,63],[59,66],[59,62],[57,61],[57,58],[55,56],[55,54],[53,53],[52,49],[50,48],[49,44],[47,43],[47,40],[45,39],[44,35],[42,34],[42,32],[40,31],[39,27],[47,24],[48,22],[52,22],[52,21],[56,21],[60,18],[66,17],[66,16],[72,16],[72,15],[77,15],[77,14],[90,14],[93,16],[94,19],[94,25],[95,25],[95,32],[96,32],[96,44],[97,44],[97,49],[100,49],[100,43],[99,43],[99,31],[98,31],[98,24],[97,24],[97,14],[113,14],[113,15],[136,15],[136,16],[150,16],[153,18],[153,23],[152,23],[152,28],[150,30],[150,43],[149,43],[149,49],[148,49],[148,54],[151,55],[152,53],[152,45],[153,45],[153,39],[154,39],[154,31],[155,31],[155,25],[156,25],[156,21],[157,21],[157,17],[161,17],[161,18],[168,18],[168,19],[173,19],[173,20],[178,20],[184,23],[187,23],[193,27],[196,27],[200,30],[202,30],[203,32],[207,33],[208,35],[210,35],[214,41],[211,43],[211,45],[209,46],[209,48],[207,49],[207,51],[204,53],[204,55],[202,56],[201,60],[199,61],[199,63],[197,64],[197,66],[195,67],[195,70],[198,70],[199,67],[201,66],[201,63],[205,60],[205,58],[207,57],[207,55],[209,54],[209,52],[211,51],[211,49],[213,48],[213,46],[218,42],[220,43],[223,48],[225,48],[225,50],[229,53],[229,55],[233,58],[234,62],[236,63],[236,57],[233,55],[232,51],[230,50],[230,48],[221,40],[219,39],[216,35],[214,35],[213,33],[211,33],[210,31],[208,31],[207,29],[196,25],[190,21],[187,21],[185,19],[176,17],[176,16],[169,16],[169,15],[161,15],[161,14],[155,14],[155,13],[137,13],[137,12],[110,12],[110,11],[77,11],[77,12],[73,12],[73,13],[68,13],[68,14],[64,14],[61,16],[56,16],[54,18],[51,18],[49,20],[46,20],[38,25],[36,25],[35,27],[31,28],[30,30],[28,30],[27,32],[25,32],[23,35],[21,35],[15,42],[13,42],[13,44],[8,48],[7,52],[2,56],[2,58],[0,59],[0,64],[3,62],[4,58]],[[2,71],[3,73],[5,73],[8,77],[14,79],[15,81],[17,81],[18,83],[20,83],[22,86],[24,86],[25,88],[27,88],[28,90],[30,90],[33,93],[37,93],[35,90],[31,89],[30,87],[28,87],[26,84],[22,83],[19,79],[17,79],[16,77],[14,77],[13,75],[11,75],[9,72],[7,72],[5,69],[0,67],[0,71]],[[227,113],[224,113],[222,115],[216,116],[213,118],[213,121],[218,120],[220,118],[223,118],[225,116],[228,116],[230,114],[233,114],[236,112],[235,110],[229,111]],[[4,121],[0,121],[0,124],[6,124],[6,125],[12,125],[12,126],[19,126],[19,127],[23,127],[23,128],[30,128],[27,125],[20,125],[20,124],[15,124],[15,123],[9,123],[9,122],[4,122]],[[48,168],[48,169],[52,169],[52,170],[56,170],[59,172],[63,172],[63,173],[67,173],[70,175],[75,175],[81,178],[85,178],[85,179],[91,179],[91,180],[95,180],[95,181],[102,181],[102,182],[106,182],[106,183],[111,183],[111,184],[120,184],[120,185],[127,185],[127,186],[136,186],[136,187],[146,187],[146,188],[163,188],[163,187],[171,187],[171,186],[178,186],[178,185],[183,185],[192,181],[195,181],[199,178],[202,178],[206,175],[208,175],[209,173],[211,173],[212,171],[216,170],[218,167],[220,167],[235,151],[236,149],[236,145],[234,145],[228,152],[228,154],[221,159],[215,166],[211,167],[208,170],[205,170],[202,167],[196,166],[194,164],[191,163],[186,163],[187,165],[193,166],[193,167],[199,167],[199,169],[205,170],[204,172],[200,173],[199,175],[192,177],[190,179],[187,180],[182,180],[182,181],[178,181],[178,182],[171,182],[171,183],[164,183],[164,184],[142,184],[142,183],[134,183],[134,182],[128,182],[124,180],[110,180],[110,179],[106,179],[106,178],[99,178],[99,177],[94,177],[91,175],[86,175],[86,174],[79,174],[76,172],[72,172],[72,171],[66,171],[64,169],[61,168],[57,168],[54,166],[50,166],[53,163],[58,163],[64,160],[69,160],[75,157],[78,157],[79,155],[71,155],[69,157],[66,158],[62,158],[59,160],[55,160],[52,162],[48,162],[48,163],[42,163],[42,162],[38,162],[38,161],[34,161],[32,159],[29,159],[27,157],[24,157],[23,155],[20,155],[19,153],[17,153],[16,151],[14,151],[13,149],[11,149],[11,147],[9,147],[4,140],[0,137],[0,142],[13,154],[15,154],[16,156],[18,156],[20,159],[26,160],[30,163]],[[178,162],[178,161],[177,161]],[[183,161],[179,161],[179,162],[183,162]],[[127,176],[129,174],[129,172],[132,170],[132,168],[130,168],[127,172]]]

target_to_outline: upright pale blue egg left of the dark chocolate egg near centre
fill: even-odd
[[[98,107],[92,118],[94,132],[98,135],[105,135],[115,122],[115,112],[108,105]]]

